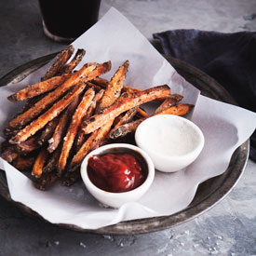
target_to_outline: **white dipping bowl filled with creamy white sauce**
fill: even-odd
[[[135,132],[137,145],[152,158],[155,168],[174,172],[186,168],[201,153],[205,139],[200,128],[178,115],[155,115]]]

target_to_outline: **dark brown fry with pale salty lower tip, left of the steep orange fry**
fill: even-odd
[[[79,96],[76,96],[76,98],[74,98],[74,101],[72,101],[69,104],[69,106],[61,113],[59,123],[55,128],[51,139],[48,141],[49,143],[47,147],[48,153],[52,153],[58,148],[62,140],[62,135],[67,129],[67,124],[71,119],[71,116],[74,114],[74,110],[78,104],[78,101],[79,101]]]

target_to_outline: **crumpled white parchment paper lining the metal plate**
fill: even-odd
[[[0,168],[6,171],[12,199],[34,209],[48,222],[97,229],[121,221],[170,215],[184,209],[193,200],[197,185],[224,172],[236,148],[256,128],[255,113],[199,95],[199,91],[187,83],[115,8],[73,45],[87,50],[78,68],[88,61],[110,60],[113,68],[105,76],[111,78],[115,70],[129,60],[128,86],[150,88],[168,84],[172,93],[182,94],[184,102],[195,104],[192,120],[202,129],[206,142],[202,154],[190,167],[172,174],[156,172],[148,193],[140,201],[128,203],[121,209],[102,208],[82,182],[70,188],[57,182],[46,192],[38,191],[26,176],[0,158]],[[48,65],[20,83],[0,88],[1,140],[4,140],[3,128],[20,108],[20,104],[7,101],[7,96],[38,82]]]

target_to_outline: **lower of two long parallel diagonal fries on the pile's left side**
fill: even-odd
[[[60,115],[61,111],[63,111],[74,100],[74,98],[84,90],[85,87],[85,83],[78,83],[64,98],[57,101],[50,109],[47,110],[46,113],[40,115],[28,126],[22,128],[12,139],[9,140],[9,142],[19,144],[22,141],[26,141],[39,129],[44,128],[47,125],[47,122]]]

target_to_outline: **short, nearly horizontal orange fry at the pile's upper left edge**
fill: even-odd
[[[63,84],[71,74],[62,74],[59,76],[53,76],[43,82],[36,83],[32,86],[20,89],[18,92],[10,95],[7,99],[12,102],[25,101],[27,99],[34,98],[37,95],[41,95],[47,91],[58,88]]]

